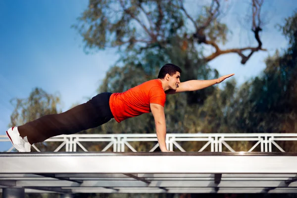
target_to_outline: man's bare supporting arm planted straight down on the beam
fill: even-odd
[[[162,152],[168,152],[166,148],[166,122],[164,107],[160,104],[150,103],[150,110],[153,115],[159,147]]]

